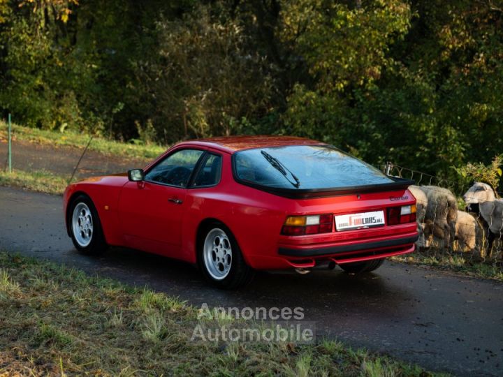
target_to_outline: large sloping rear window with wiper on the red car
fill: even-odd
[[[288,145],[233,154],[237,182],[286,198],[323,198],[404,190],[414,182],[388,177],[330,145]]]

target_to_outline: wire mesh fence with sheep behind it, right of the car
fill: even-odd
[[[503,200],[497,199],[491,186],[474,183],[463,187],[393,163],[381,169],[392,177],[416,182],[409,190],[417,200],[419,252],[463,253],[469,260],[501,265]]]

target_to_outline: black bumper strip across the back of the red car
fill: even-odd
[[[395,249],[400,246],[409,246],[414,244],[418,240],[418,235],[413,235],[409,237],[400,237],[395,239],[384,239],[372,242],[360,242],[358,244],[345,244],[345,245],[335,245],[321,248],[302,248],[302,249],[289,249],[285,247],[280,247],[278,253],[280,256],[291,256],[291,257],[319,257],[328,256],[333,254],[346,254],[358,251],[372,251],[376,249]],[[406,248],[409,249],[409,248]]]

